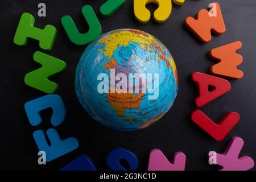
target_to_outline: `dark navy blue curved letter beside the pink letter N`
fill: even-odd
[[[108,155],[107,163],[109,167],[114,171],[127,171],[126,168],[121,166],[121,159],[125,159],[131,169],[137,169],[138,159],[136,155],[125,148],[115,148],[113,151],[111,151]]]

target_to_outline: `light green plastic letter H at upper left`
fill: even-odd
[[[51,50],[57,30],[52,25],[47,24],[44,29],[34,27],[35,18],[29,13],[23,13],[19,20],[19,25],[14,36],[14,43],[18,46],[26,46],[27,39],[32,38],[39,41],[39,46],[45,50]]]

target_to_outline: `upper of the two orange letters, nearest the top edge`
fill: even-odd
[[[185,25],[203,43],[212,40],[211,31],[217,35],[223,34],[226,31],[225,23],[221,14],[220,5],[217,2],[214,2],[213,4],[216,5],[217,16],[212,16],[210,15],[209,11],[203,9],[199,11],[196,19],[189,16],[185,20]]]

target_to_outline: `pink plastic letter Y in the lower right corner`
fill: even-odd
[[[254,161],[249,156],[238,158],[243,143],[242,138],[233,137],[224,154],[216,154],[216,163],[222,166],[220,171],[247,171],[254,167]]]

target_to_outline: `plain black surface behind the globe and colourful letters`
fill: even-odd
[[[47,17],[39,18],[38,3],[47,6]],[[208,164],[207,154],[211,150],[224,152],[232,137],[241,137],[245,141],[242,155],[249,155],[256,160],[256,1],[255,0],[219,0],[226,32],[213,36],[207,44],[200,43],[184,26],[188,16],[197,14],[200,9],[207,9],[209,0],[187,0],[183,6],[173,5],[172,14],[167,22],[158,24],[154,20],[141,24],[135,20],[133,1],[127,0],[125,5],[112,16],[105,18],[99,9],[102,0],[8,0],[0,2],[0,169],[59,169],[81,154],[89,155],[98,169],[109,170],[106,156],[115,147],[125,147],[133,151],[139,160],[139,168],[147,169],[149,152],[159,148],[168,159],[177,151],[187,155],[187,170],[215,170],[217,166]],[[159,122],[147,129],[125,133],[110,130],[99,125],[82,109],[74,90],[76,64],[86,46],[76,46],[68,39],[60,19],[71,15],[81,32],[88,26],[81,14],[84,5],[91,5],[102,26],[102,33],[118,28],[136,28],[160,39],[172,53],[179,74],[179,91],[174,106]],[[151,12],[155,5],[148,5]],[[51,51],[43,51],[38,42],[29,40],[26,47],[13,43],[20,15],[24,12],[35,16],[35,26],[44,28],[52,24],[58,30]],[[230,80],[230,92],[201,107],[213,121],[220,121],[228,111],[237,111],[241,115],[240,122],[221,142],[217,142],[196,126],[190,119],[196,110],[196,84],[191,81],[193,72],[209,73],[211,65],[216,63],[208,56],[210,49],[241,40],[243,56],[239,68],[245,73],[241,80]],[[40,67],[32,59],[35,51],[46,52],[67,62],[67,69],[51,80],[59,84],[59,94],[67,108],[65,122],[56,127],[61,138],[77,137],[80,146],[76,151],[61,156],[47,165],[39,166],[38,148],[32,138],[35,130],[46,131],[51,126],[49,119],[51,110],[43,111],[43,123],[33,127],[24,112],[27,101],[44,96],[43,92],[24,84],[26,73]],[[254,169],[256,169],[254,167]]]

